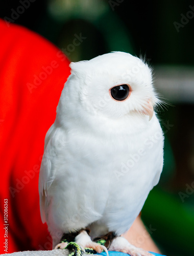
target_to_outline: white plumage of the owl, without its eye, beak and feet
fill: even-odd
[[[39,176],[43,222],[56,245],[61,234],[90,227],[91,236],[127,231],[163,166],[163,134],[148,101],[159,99],[151,69],[113,52],[70,64],[54,124],[45,137]],[[109,89],[129,84],[125,101]]]

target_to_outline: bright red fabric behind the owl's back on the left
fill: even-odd
[[[4,20],[0,45],[0,253],[51,249],[40,219],[38,173],[69,61],[39,35],[8,27]],[[9,226],[4,225],[4,199]]]

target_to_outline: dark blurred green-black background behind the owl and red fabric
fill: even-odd
[[[71,61],[110,51],[145,56],[154,68],[155,87],[169,104],[158,111],[165,134],[164,170],[142,219],[163,253],[193,254],[193,3],[5,0],[0,16],[8,26],[12,22],[41,34]]]

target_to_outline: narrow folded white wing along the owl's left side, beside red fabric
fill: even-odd
[[[46,222],[46,210],[50,203],[50,198],[47,196],[47,191],[55,179],[55,172],[57,169],[56,164],[53,163],[53,159],[57,154],[57,152],[55,152],[56,147],[53,146],[56,140],[55,134],[56,126],[53,124],[45,137],[44,155],[42,157],[39,173],[38,189],[40,198],[40,215],[43,223]]]

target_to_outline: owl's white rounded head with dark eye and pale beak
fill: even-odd
[[[92,115],[119,118],[147,115],[159,102],[147,63],[124,52],[111,52],[91,60],[71,62],[64,91]],[[65,93],[65,92],[64,92]],[[69,98],[70,97],[70,98]]]

